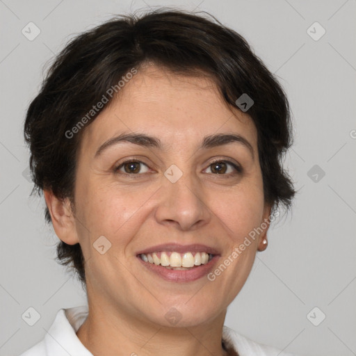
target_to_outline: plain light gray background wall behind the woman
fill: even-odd
[[[58,309],[86,302],[54,261],[58,238],[44,223],[43,198],[29,198],[26,108],[49,60],[75,33],[149,6],[206,10],[241,33],[280,77],[293,111],[295,145],[286,156],[299,190],[293,212],[270,229],[225,325],[300,355],[356,355],[355,0],[0,0],[0,356],[40,341]],[[33,41],[22,34],[29,22],[41,31]],[[326,30],[318,40],[307,32],[314,22]],[[22,319],[29,307],[41,316],[32,327]]]

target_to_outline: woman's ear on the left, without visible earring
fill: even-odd
[[[63,200],[59,199],[50,190],[44,190],[43,195],[51,214],[54,232],[56,232],[58,238],[68,245],[79,243],[70,199],[67,197]]]

